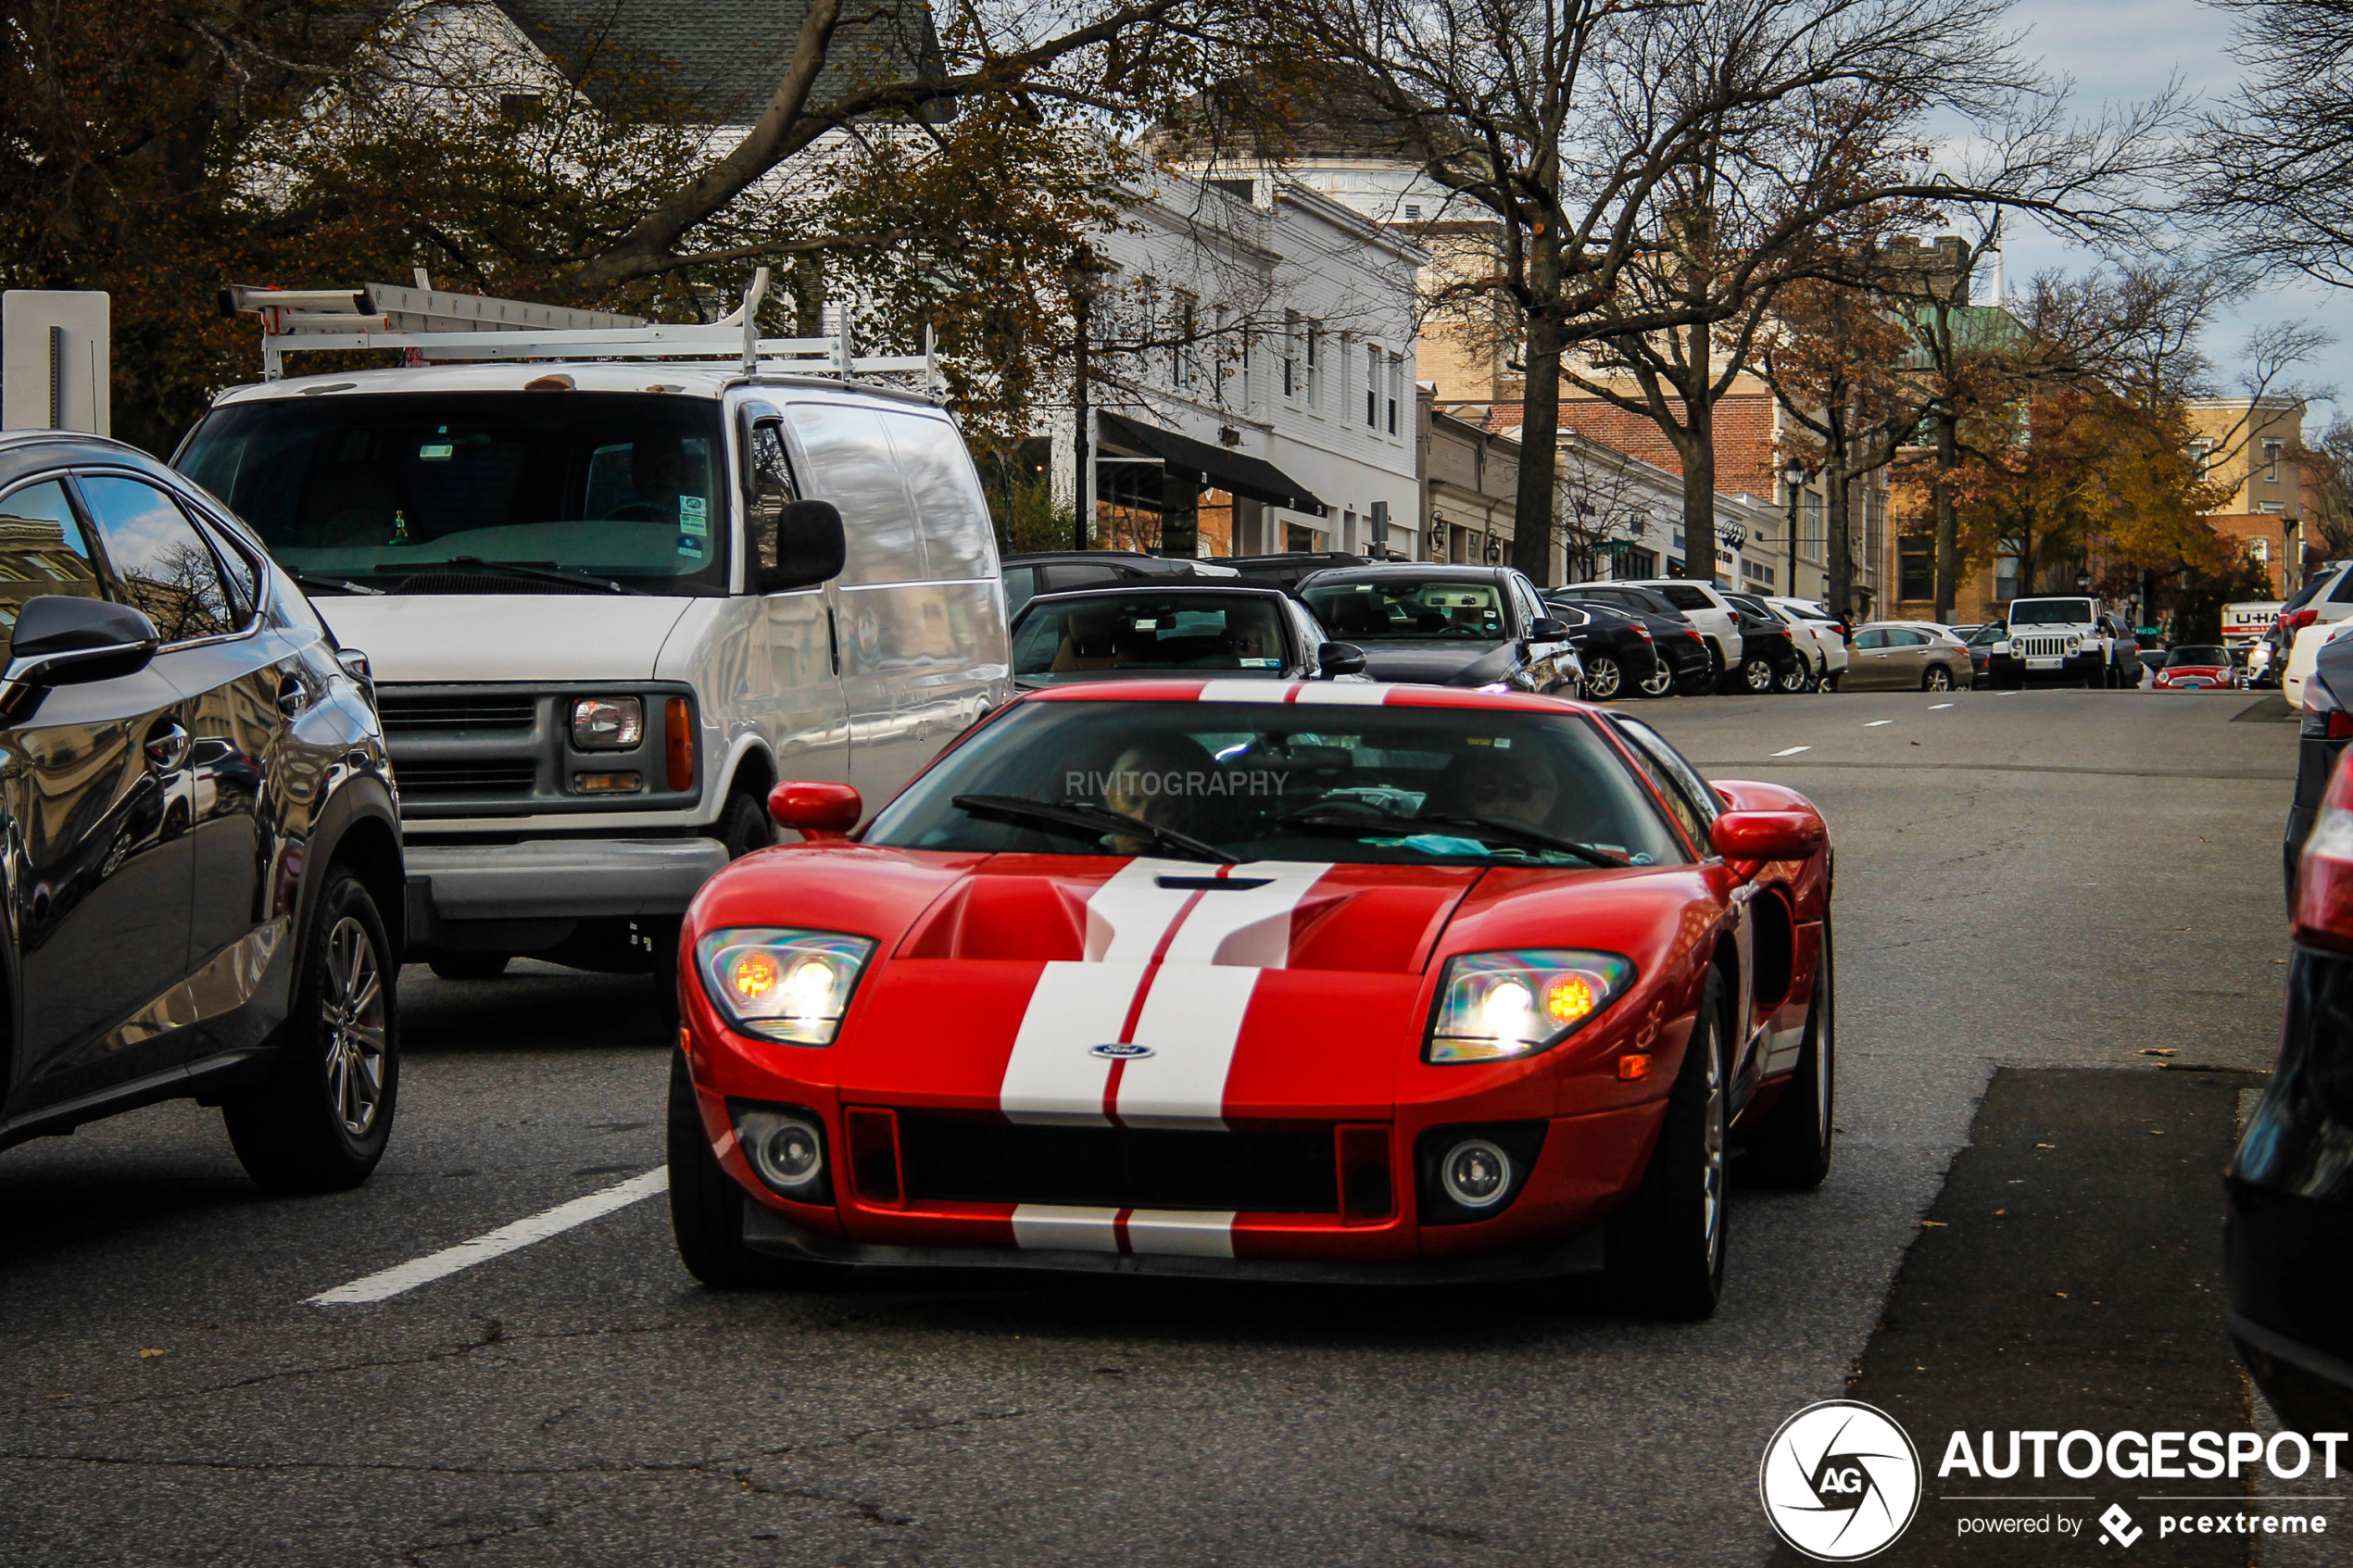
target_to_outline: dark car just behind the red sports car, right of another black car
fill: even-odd
[[[1334,637],[1365,649],[1377,682],[1584,691],[1569,628],[1511,567],[1348,567],[1306,578],[1299,597]]]

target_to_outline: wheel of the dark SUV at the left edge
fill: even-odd
[[[400,1100],[391,952],[367,886],[348,865],[329,865],[271,1077],[221,1103],[238,1164],[271,1192],[344,1192],[384,1159]]]

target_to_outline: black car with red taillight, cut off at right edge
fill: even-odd
[[[2329,646],[2315,691],[2353,675],[2353,644]],[[2327,715],[2344,717],[2329,701]],[[2311,757],[2311,724],[2306,736]],[[2344,745],[2334,724],[2327,738]],[[2280,1425],[2311,1436],[2353,1425],[2353,773],[2344,769],[2318,799],[2289,917],[2280,1056],[2226,1173],[2224,1281],[2240,1361]]]

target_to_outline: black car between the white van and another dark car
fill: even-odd
[[[1365,651],[1332,642],[1275,588],[1172,581],[1045,592],[1014,616],[1012,649],[1014,684],[1033,691],[1205,670],[1219,679],[1365,677]]]

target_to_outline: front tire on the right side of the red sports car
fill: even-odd
[[[1729,1105],[1725,976],[1711,969],[1649,1168],[1609,1218],[1605,1258],[1621,1309],[1699,1321],[1725,1298]]]

